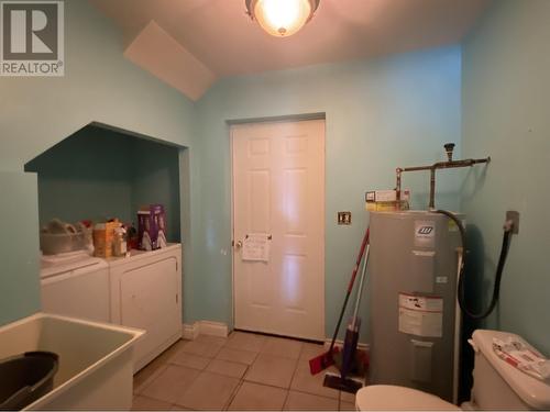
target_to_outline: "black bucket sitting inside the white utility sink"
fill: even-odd
[[[0,360],[0,410],[21,410],[50,392],[59,356],[26,352]]]

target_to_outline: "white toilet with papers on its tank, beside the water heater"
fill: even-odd
[[[474,386],[471,400],[462,404],[463,409],[550,410],[550,382],[520,371],[493,350],[494,338],[506,341],[509,337],[521,339],[512,333],[498,331],[477,330],[473,333],[470,344],[475,353]],[[355,396],[355,408],[359,411],[460,410],[433,394],[392,385],[362,388]]]

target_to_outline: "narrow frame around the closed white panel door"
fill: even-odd
[[[315,113],[304,113],[304,114],[288,114],[288,115],[278,115],[278,116],[266,116],[266,118],[253,118],[253,119],[234,119],[226,121],[227,131],[229,136],[229,182],[231,186],[230,191],[230,213],[231,213],[231,233],[229,244],[231,247],[231,325],[229,327],[230,331],[234,330],[235,325],[235,248],[234,248],[234,191],[233,191],[233,126],[238,126],[240,124],[261,124],[261,123],[289,123],[289,122],[305,122],[308,120],[322,120],[324,121],[324,158],[323,158],[323,185],[324,185],[324,199],[323,199],[323,246],[327,245],[327,114],[324,112],[315,112]],[[323,271],[322,271],[322,281],[323,281],[323,313],[322,313],[322,324],[323,330],[327,330],[327,248],[324,247],[323,253]],[[326,334],[326,332],[324,332]],[[324,343],[324,342],[323,342]]]

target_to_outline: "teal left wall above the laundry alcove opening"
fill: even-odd
[[[86,0],[66,1],[65,77],[0,78],[0,170],[23,170],[25,163],[90,122],[172,142],[189,147],[190,153],[194,103],[122,53],[122,35],[110,21]],[[15,175],[6,179],[4,187],[19,182]],[[25,207],[37,208],[36,199],[26,201],[31,204]],[[190,231],[190,216],[180,219]],[[11,231],[12,224],[10,218],[0,215],[2,227]],[[31,245],[25,250],[37,259],[33,246],[37,245],[37,223],[36,231],[25,231],[24,236],[23,243]],[[183,237],[190,236],[184,233]],[[191,260],[189,256],[186,265]],[[23,305],[40,304],[37,294],[29,293],[29,285],[32,290],[38,288],[37,267],[29,270],[22,263],[20,276],[18,285],[12,275],[0,271],[0,301],[6,302],[2,320],[24,316],[29,311]]]

